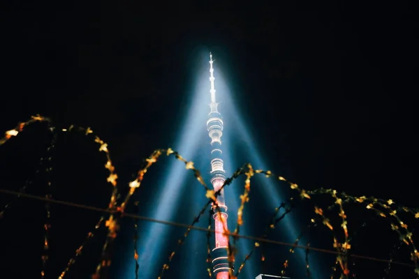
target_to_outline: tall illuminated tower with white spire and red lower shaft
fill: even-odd
[[[215,98],[214,87],[214,68],[212,68],[212,54],[210,54],[210,82],[211,82],[211,112],[208,114],[207,128],[208,135],[211,137],[212,160],[211,160],[211,183],[214,191],[218,191],[226,181],[226,172],[223,168],[223,160],[221,159],[221,135],[223,135],[223,121],[221,114],[217,110],[218,103]],[[215,223],[215,248],[212,250],[212,264],[216,279],[228,279],[230,267],[228,265],[228,236],[224,235],[227,229],[227,206],[224,201],[224,191],[221,190],[220,195],[216,199],[219,210],[214,209]]]

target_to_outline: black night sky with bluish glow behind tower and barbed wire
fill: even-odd
[[[90,127],[108,143],[125,193],[128,181],[154,149],[182,145],[179,138],[184,123],[195,117],[187,114],[196,84],[204,84],[200,90],[207,91],[207,100],[193,103],[202,107],[196,110],[202,115],[196,117],[207,116],[207,61],[211,51],[216,59],[219,110],[226,123],[226,152],[234,158],[229,163],[230,174],[243,163],[253,163],[251,154],[257,153],[263,158],[263,167],[307,190],[335,188],[349,195],[374,195],[417,206],[419,44],[413,6],[404,1],[269,6],[208,1],[172,6],[163,2],[88,2],[0,4],[1,130],[10,130],[35,114],[50,117],[58,128],[71,124]],[[223,100],[223,86],[228,87],[228,100]],[[239,115],[251,140],[244,139],[233,123],[234,116]],[[24,131],[0,146],[0,187],[19,191],[29,179],[33,183],[27,193],[45,195],[46,165],[41,165],[39,174],[36,169],[51,137],[39,123]],[[205,133],[204,121],[196,130],[196,137],[204,140],[186,159],[196,159],[208,179],[210,138]],[[256,147],[249,149],[251,144]],[[105,156],[97,149],[94,137],[59,133],[50,154],[54,198],[102,208],[108,205]],[[150,171],[149,181],[133,198],[140,201],[140,208],[135,211],[130,204],[128,211],[147,216],[152,208],[165,206],[156,197],[163,191],[159,178],[167,176],[170,164],[172,160],[161,160],[161,165]],[[182,202],[167,210],[176,215],[172,220],[191,223],[198,212],[191,212],[188,206],[199,209],[205,202],[205,191],[186,170],[182,181],[189,185],[181,195]],[[256,185],[260,187],[255,186],[255,196],[251,196],[245,227],[249,234],[260,236],[274,207],[263,205],[263,183]],[[233,186],[242,187],[240,183]],[[279,186],[286,188],[286,184]],[[288,193],[288,188],[285,191]],[[13,200],[13,207],[0,220],[0,272],[13,274],[13,278],[39,278],[44,204],[1,193],[0,210]],[[294,219],[296,226],[310,218],[307,212],[312,206],[304,206],[297,203],[293,216],[287,217]],[[354,229],[355,224],[377,219],[360,210],[352,212],[348,211],[348,218],[353,220]],[[100,213],[56,204],[51,206],[51,213],[46,278],[57,278]],[[385,225],[381,221],[376,222],[360,234],[356,253],[388,259],[387,248],[391,250],[398,243],[398,236],[388,227],[382,229]],[[411,224],[414,234],[418,223]],[[207,217],[198,225],[207,227]],[[148,223],[138,226],[140,236],[149,229]],[[332,238],[322,234],[327,232],[322,229],[311,234],[311,245],[330,248]],[[139,278],[157,278],[183,232],[171,228],[161,239],[163,246],[154,265],[140,265],[140,270],[149,270],[151,275]],[[272,235],[293,242],[283,231]],[[102,229],[66,278],[89,278],[98,263],[104,236]],[[185,243],[167,278],[204,278],[205,233],[191,237],[196,243],[203,240],[193,248],[196,257],[188,252],[191,243]],[[125,273],[127,266],[132,270],[134,266],[132,239],[132,221],[124,220],[110,278],[135,278],[133,273]],[[288,249],[267,248],[270,258],[263,269],[279,273],[289,258]],[[405,246],[401,249],[409,254]],[[318,268],[311,265],[313,278],[330,278],[333,258],[327,262],[330,255],[325,256],[325,264],[319,259],[323,254],[313,255],[318,255],[320,263]],[[256,253],[254,263],[249,262],[255,266],[254,273],[245,269],[243,278],[262,272],[258,258]],[[399,260],[409,262],[409,257]],[[383,278],[386,264],[361,260],[358,265],[359,278]],[[186,273],[189,266],[200,269]],[[374,271],[366,271],[373,267]],[[293,278],[306,276],[304,265],[298,266],[297,260],[289,269]],[[399,278],[399,271],[405,271],[403,278],[414,278],[413,271],[397,267],[388,278]]]

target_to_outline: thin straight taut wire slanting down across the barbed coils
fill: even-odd
[[[101,209],[99,207],[96,206],[88,206],[85,204],[76,204],[74,202],[65,202],[65,201],[61,201],[58,199],[49,199],[47,197],[40,197],[40,196],[36,196],[36,195],[30,195],[30,194],[26,194],[26,193],[20,193],[20,192],[15,192],[15,191],[11,191],[11,190],[6,190],[6,189],[1,189],[0,188],[0,193],[4,193],[4,194],[8,194],[8,195],[16,195],[17,197],[26,197],[29,199],[37,199],[39,201],[43,201],[43,202],[52,202],[54,204],[62,204],[62,205],[66,205],[66,206],[73,206],[73,207],[77,207],[79,209],[87,209],[87,210],[91,210],[91,211],[98,211],[98,212],[102,212],[102,213],[117,213],[116,211],[110,211],[109,209]],[[144,220],[147,222],[154,222],[154,223],[160,223],[163,225],[170,225],[170,226],[174,226],[174,227],[184,227],[186,229],[195,229],[197,231],[201,231],[201,232],[213,232],[215,233],[214,229],[207,229],[205,227],[196,227],[196,226],[191,226],[191,225],[187,225],[187,224],[183,224],[183,223],[177,223],[177,222],[171,222],[171,221],[164,221],[164,220],[157,220],[157,219],[153,219],[153,218],[149,218],[146,216],[140,216],[137,214],[133,214],[133,213],[123,213],[122,215],[123,217],[130,217],[130,218],[135,218],[138,220]],[[276,244],[276,245],[280,245],[280,246],[291,246],[293,248],[300,248],[300,249],[304,249],[304,250],[313,250],[313,251],[318,251],[318,252],[325,252],[325,253],[329,253],[329,254],[344,254],[344,253],[339,253],[337,251],[334,250],[328,250],[328,249],[321,249],[321,248],[315,248],[315,247],[311,247],[311,246],[302,246],[302,245],[295,245],[294,243],[286,243],[286,242],[282,242],[282,241],[275,241],[275,240],[271,240],[271,239],[264,239],[261,237],[256,237],[256,236],[246,236],[246,235],[242,235],[242,234],[233,234],[230,233],[230,236],[233,237],[237,237],[237,238],[241,238],[241,239],[249,239],[249,240],[253,240],[253,241],[258,241],[258,242],[264,242],[264,243],[271,243],[271,244]],[[406,264],[404,262],[395,262],[389,259],[378,259],[376,257],[368,257],[365,255],[353,255],[353,254],[349,254],[348,256],[350,257],[355,257],[358,259],[369,259],[372,261],[376,261],[376,262],[386,262],[386,263],[391,263],[391,264],[399,264],[402,266],[408,266],[408,267],[414,267],[413,264]]]

